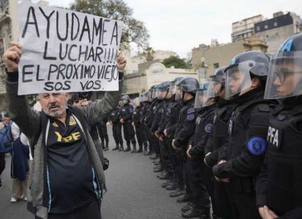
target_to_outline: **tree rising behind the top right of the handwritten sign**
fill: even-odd
[[[149,46],[150,35],[144,23],[133,18],[132,8],[123,0],[74,0],[69,9],[124,22],[121,43],[125,49],[131,43],[141,49]]]

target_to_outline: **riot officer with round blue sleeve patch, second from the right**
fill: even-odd
[[[255,209],[255,179],[263,163],[268,130],[269,106],[263,99],[269,56],[246,51],[226,67],[226,99],[239,95],[228,126],[228,155],[213,167],[218,181],[233,186],[240,218],[260,218]]]

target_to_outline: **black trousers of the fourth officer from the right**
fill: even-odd
[[[210,195],[205,187],[203,160],[201,158],[187,159],[186,170],[192,202],[199,209],[210,209]]]

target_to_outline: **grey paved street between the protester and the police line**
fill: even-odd
[[[176,198],[161,188],[162,180],[153,172],[152,161],[142,154],[112,152],[115,146],[110,126],[110,151],[105,152],[110,160],[106,170],[108,192],[101,207],[105,219],[182,218],[181,206]],[[6,159],[6,170],[1,177],[4,188],[0,191],[0,219],[33,218],[26,210],[26,202],[10,203],[10,159]]]

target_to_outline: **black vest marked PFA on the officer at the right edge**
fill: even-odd
[[[269,119],[267,202],[279,216],[302,207],[301,123],[301,104]]]

